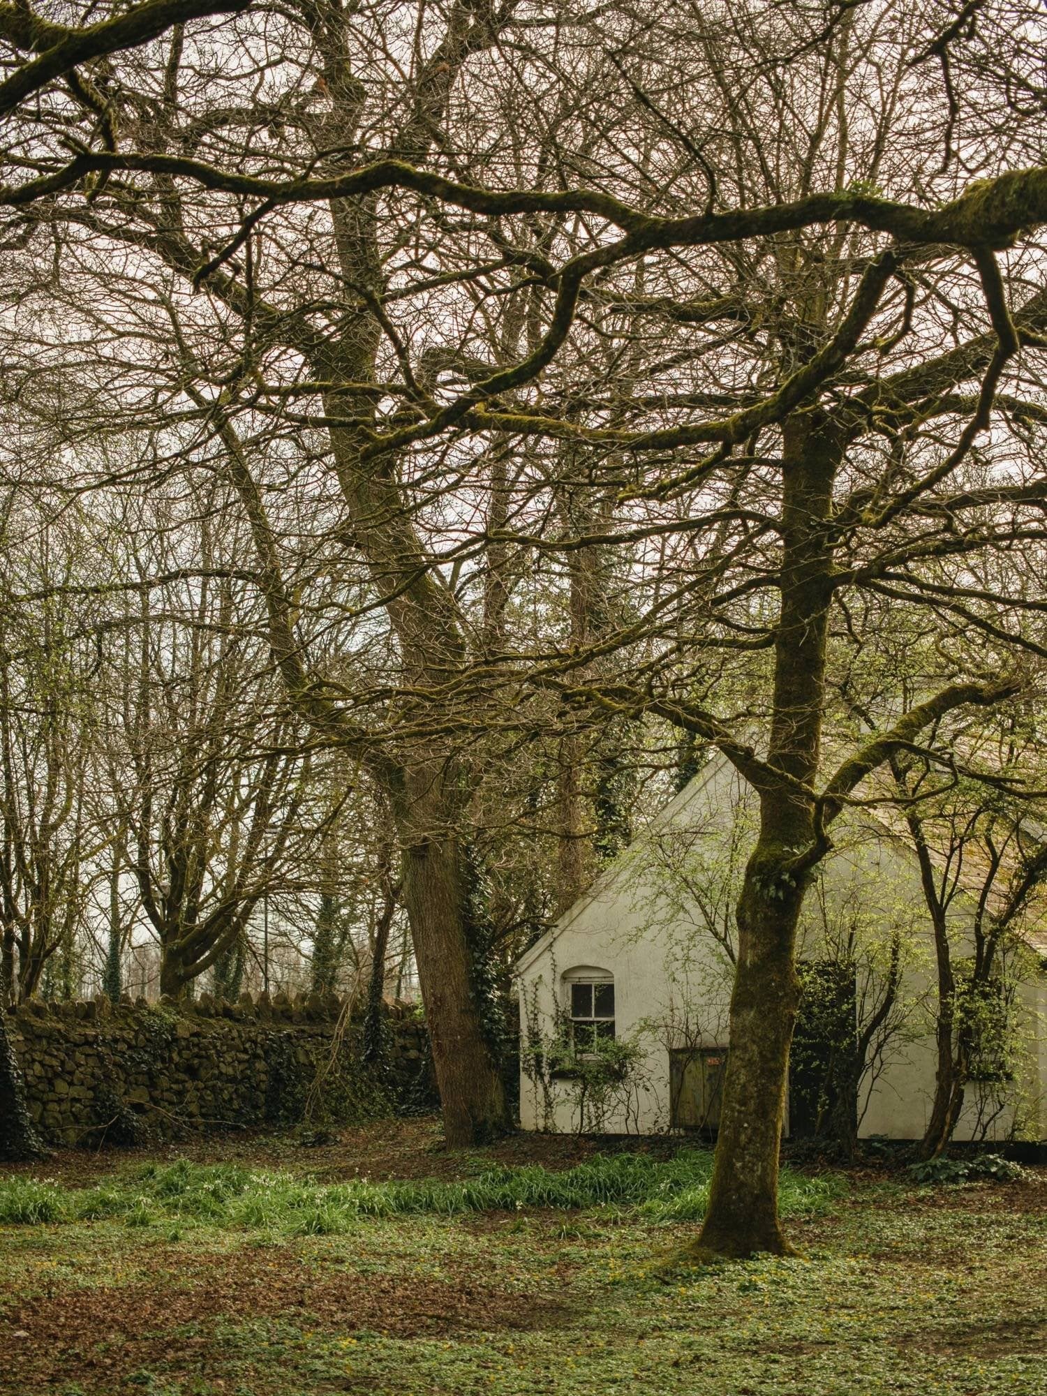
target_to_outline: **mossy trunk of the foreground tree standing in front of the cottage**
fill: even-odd
[[[785,423],[782,606],[757,846],[738,899],[727,1071],[699,1255],[787,1254],[778,1159],[800,981],[796,928],[817,861],[814,801],[825,690],[832,551],[828,524],[840,444],[814,412]]]

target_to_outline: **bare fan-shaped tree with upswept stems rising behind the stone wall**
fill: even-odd
[[[204,532],[197,546],[221,571],[216,521]],[[131,565],[148,575],[155,558]],[[300,727],[267,648],[237,620],[236,584],[184,584],[180,606],[177,589],[159,613],[138,593],[106,669],[110,799],[172,998],[243,955],[255,906],[299,878],[320,829]]]

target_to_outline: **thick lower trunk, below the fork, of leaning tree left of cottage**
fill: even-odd
[[[413,768],[394,799],[394,811],[444,1136],[463,1149],[505,1132],[505,1092],[473,991],[461,856],[441,779],[433,768]]]

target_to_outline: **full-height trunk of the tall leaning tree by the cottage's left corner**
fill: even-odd
[[[352,148],[357,137],[363,87],[350,71],[343,28],[321,43],[332,95],[329,121],[318,131],[321,148]],[[444,64],[447,67],[447,64]],[[441,81],[445,74],[441,74]],[[338,162],[334,162],[338,168]],[[346,285],[384,295],[374,201],[332,200],[329,204],[338,264]],[[381,343],[373,315],[346,318],[339,338],[317,353],[318,378],[339,384],[371,384]],[[398,681],[408,711],[413,694],[440,702],[468,666],[468,644],[458,603],[426,556],[396,470],[367,461],[367,423],[374,423],[376,398],[339,388],[325,395],[332,420],[329,443],[342,498],[359,547],[396,637]],[[391,718],[392,725],[396,719]],[[463,860],[459,825],[468,797],[463,764],[434,748],[427,738],[405,743],[374,758],[374,775],[389,800],[402,850],[403,906],[410,923],[422,997],[433,1050],[433,1067],[444,1114],[444,1135],[454,1148],[468,1148],[505,1132],[505,1096],[489,1050],[475,991],[466,934]]]

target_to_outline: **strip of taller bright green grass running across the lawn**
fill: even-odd
[[[631,1208],[653,1223],[698,1222],[705,1215],[712,1156],[684,1150],[670,1160],[646,1154],[596,1156],[574,1168],[500,1166],[475,1177],[322,1184],[240,1164],[147,1164],[94,1188],[71,1189],[35,1178],[0,1181],[0,1224],[96,1222],[128,1224],[190,1220],[292,1235],[336,1235],[360,1217],[462,1216],[525,1208],[581,1210]],[[810,1178],[785,1170],[786,1216],[825,1212],[842,1191],[833,1175]]]

